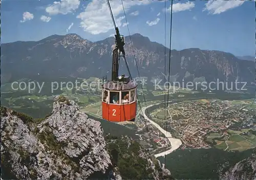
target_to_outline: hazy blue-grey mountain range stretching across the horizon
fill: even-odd
[[[148,37],[134,34],[125,37],[125,57],[132,76],[163,76],[168,74],[169,49]],[[40,41],[4,43],[1,47],[2,82],[22,78],[111,76],[114,37],[92,42],[76,34],[52,35]],[[189,48],[172,50],[170,75],[173,82],[203,78],[219,81],[255,83],[255,62],[241,61],[218,50]],[[136,61],[135,61],[136,58]],[[165,62],[166,60],[166,62]],[[127,74],[120,61],[119,72]]]

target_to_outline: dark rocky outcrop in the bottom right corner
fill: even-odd
[[[220,180],[255,180],[256,179],[256,151],[236,165],[221,174]]]

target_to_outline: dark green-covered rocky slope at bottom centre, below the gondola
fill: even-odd
[[[123,179],[173,179],[170,171],[137,141],[129,137],[106,137],[114,168]]]

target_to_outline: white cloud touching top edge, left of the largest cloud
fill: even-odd
[[[80,5],[80,0],[60,0],[53,2],[46,8],[46,12],[50,15],[68,14],[74,12]]]

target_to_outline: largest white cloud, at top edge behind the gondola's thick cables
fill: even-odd
[[[147,5],[156,1],[123,1],[125,12],[128,12],[132,6]],[[117,27],[121,27],[123,19],[120,15],[123,14],[123,7],[121,1],[110,1],[111,9]],[[110,15],[108,5],[104,1],[93,0],[78,16],[80,27],[83,31],[89,32],[93,35],[106,33],[109,30],[114,30],[113,21]]]

